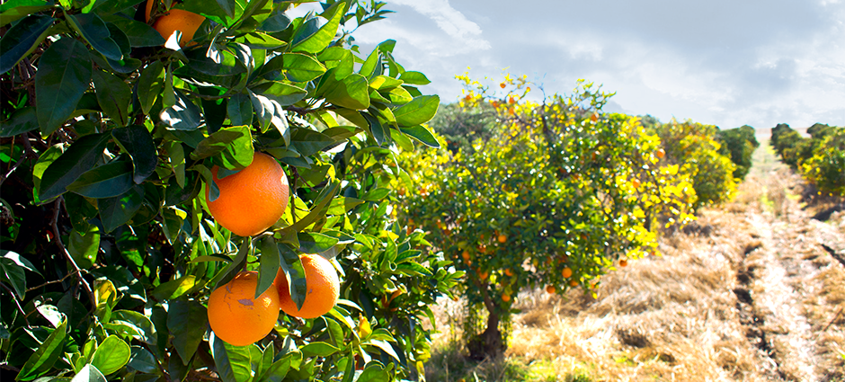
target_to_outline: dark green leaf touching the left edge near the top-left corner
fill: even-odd
[[[0,14],[0,22],[4,15]],[[33,14],[5,32],[3,38],[0,38],[0,74],[11,70],[47,37],[53,20],[43,14]]]

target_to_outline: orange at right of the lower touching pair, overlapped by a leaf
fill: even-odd
[[[341,283],[334,271],[332,262],[325,260],[319,254],[303,254],[299,256],[302,269],[305,271],[307,293],[301,309],[290,298],[288,278],[281,269],[276,274],[275,284],[279,288],[281,310],[289,315],[302,318],[316,318],[325,315],[340,297]],[[398,295],[397,295],[398,296]]]

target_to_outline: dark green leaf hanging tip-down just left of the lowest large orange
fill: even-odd
[[[173,335],[173,347],[187,365],[197,351],[209,325],[209,315],[205,306],[198,301],[182,299],[170,302],[167,311],[167,329]]]

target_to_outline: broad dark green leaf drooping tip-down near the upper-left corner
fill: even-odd
[[[56,131],[73,114],[91,82],[91,71],[88,49],[74,39],[58,40],[41,55],[35,73],[35,106],[42,134]]]

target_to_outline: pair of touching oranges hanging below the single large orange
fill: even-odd
[[[325,315],[340,297],[340,280],[332,263],[318,254],[299,257],[305,270],[307,294],[301,308],[290,298],[288,279],[279,270],[276,280],[258,298],[258,273],[242,271],[226,285],[211,292],[209,324],[219,339],[246,346],[269,334],[279,319],[279,310],[301,318]]]

